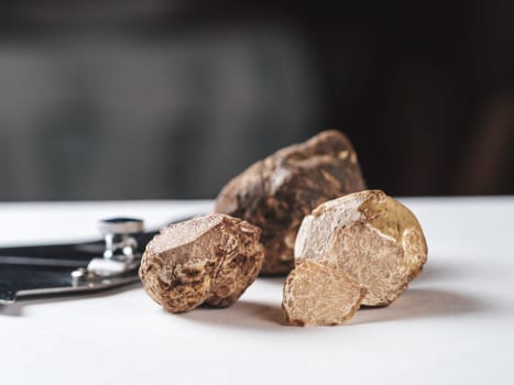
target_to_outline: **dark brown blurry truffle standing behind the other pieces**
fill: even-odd
[[[228,213],[262,229],[262,274],[294,267],[294,243],[302,219],[320,204],[365,189],[357,154],[339,131],[277,151],[230,180],[216,200]]]

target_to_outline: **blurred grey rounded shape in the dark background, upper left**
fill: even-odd
[[[310,57],[274,25],[3,37],[0,200],[215,197],[319,129]]]

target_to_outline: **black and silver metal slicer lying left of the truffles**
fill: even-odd
[[[103,240],[94,242],[0,248],[0,304],[136,282],[141,254],[157,232],[143,232],[133,218],[101,220],[99,230]]]

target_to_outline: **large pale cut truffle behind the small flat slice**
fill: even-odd
[[[396,299],[423,268],[427,244],[416,217],[380,190],[320,205],[298,231],[295,258],[338,268],[368,288],[362,304]]]

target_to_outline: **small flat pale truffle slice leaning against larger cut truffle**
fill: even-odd
[[[289,324],[340,324],[353,317],[367,293],[348,274],[305,260],[287,276],[282,307]]]

